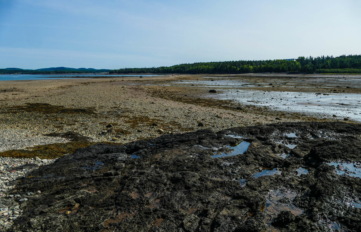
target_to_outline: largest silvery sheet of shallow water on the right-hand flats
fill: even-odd
[[[361,121],[361,94],[334,93],[316,95],[305,92],[268,92],[247,89],[238,91],[225,91],[215,96],[212,95],[212,97],[282,111],[309,113],[318,117],[332,117],[335,114],[338,117],[350,117]]]

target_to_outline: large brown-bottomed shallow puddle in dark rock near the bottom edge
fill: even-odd
[[[296,196],[297,193],[287,189],[273,190],[265,195],[266,204],[261,208],[261,211],[266,214],[265,223],[271,231],[279,231],[271,223],[281,211],[289,210],[296,216],[303,214],[304,210],[292,205],[292,201]]]

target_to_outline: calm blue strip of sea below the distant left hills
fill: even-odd
[[[108,74],[16,74],[0,75],[0,81],[23,81],[23,80],[52,80],[52,79],[74,79],[74,77],[139,77],[140,75],[108,75]],[[157,75],[142,75],[143,77],[154,77]]]

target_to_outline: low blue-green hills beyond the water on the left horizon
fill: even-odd
[[[47,74],[47,73],[106,73],[110,69],[94,69],[94,68],[66,68],[66,67],[52,67],[40,69],[21,69],[21,68],[5,68],[0,69],[0,74],[4,73],[23,73],[23,74]]]

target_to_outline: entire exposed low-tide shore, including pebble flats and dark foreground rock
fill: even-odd
[[[360,78],[3,81],[0,224],[10,231],[360,229],[357,100],[349,116],[275,103],[289,104],[280,99],[286,93],[358,95]]]

